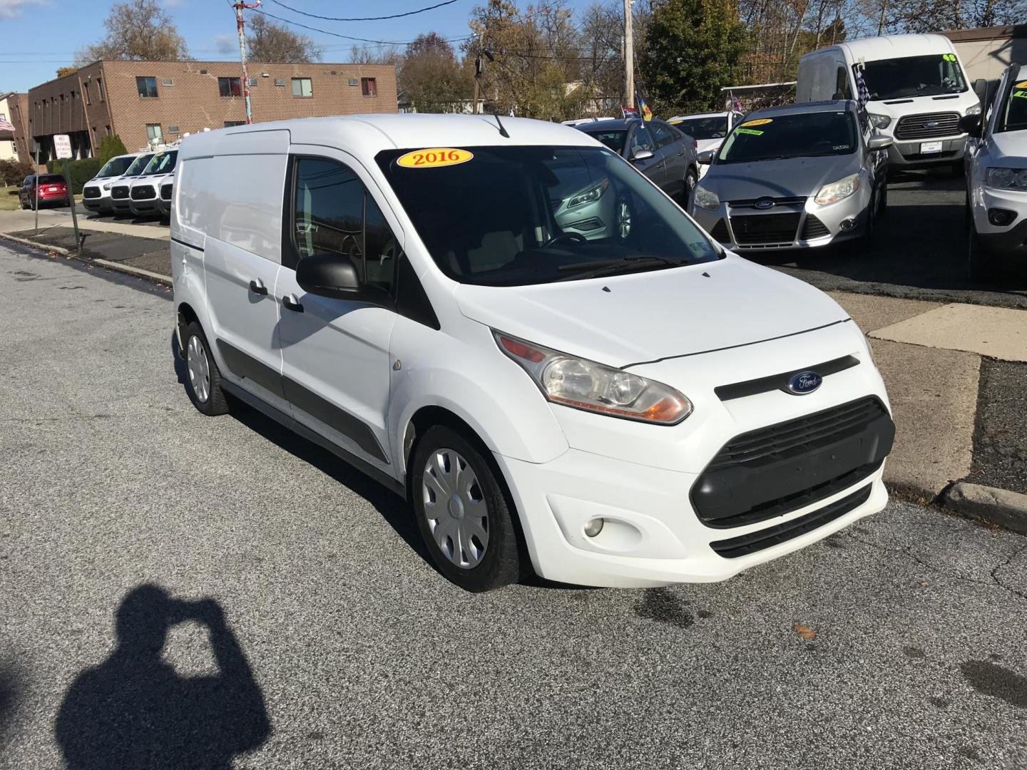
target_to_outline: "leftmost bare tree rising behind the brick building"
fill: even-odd
[[[79,50],[78,64],[100,59],[156,62],[189,59],[186,41],[157,0],[115,3],[104,25],[107,37]]]

